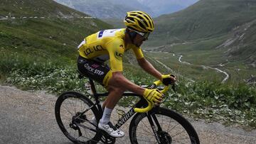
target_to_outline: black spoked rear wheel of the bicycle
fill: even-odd
[[[67,103],[67,106],[64,105],[65,103]],[[74,107],[72,108],[72,106]],[[82,106],[82,109],[78,109],[77,112],[76,110],[78,107],[76,106]],[[85,109],[88,111],[81,114],[81,112],[85,111]],[[92,101],[88,99],[87,96],[84,96],[78,92],[64,92],[58,97],[55,103],[55,118],[58,126],[64,135],[73,143],[97,143],[100,140],[102,135],[99,131],[97,131],[97,126],[94,126],[89,121],[91,120],[90,118],[92,118],[92,116],[95,116],[96,120],[99,121],[100,116],[98,113],[98,109],[96,106],[93,106]],[[69,125],[67,126],[64,122],[68,122]],[[78,130],[79,128],[80,133],[82,133],[82,131],[85,131],[85,133],[80,135]]]

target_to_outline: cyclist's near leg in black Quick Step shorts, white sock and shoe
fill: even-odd
[[[112,77],[110,67],[100,62],[96,62],[95,60],[87,60],[84,57],[79,56],[78,70],[80,70],[80,72],[82,72],[82,74],[85,74],[87,77],[94,79],[96,82],[100,82],[100,84],[107,87],[107,90],[109,92],[109,95],[107,96],[107,99],[102,106],[103,108],[107,106],[108,109],[104,109],[102,115],[103,120],[101,118],[98,127],[103,131],[106,131],[113,137],[124,136],[124,132],[119,131],[117,128],[114,128],[114,126],[112,126],[112,123],[110,123],[112,109],[114,109],[114,106],[117,104],[124,92],[122,88],[112,87],[112,84],[107,86],[108,81]]]

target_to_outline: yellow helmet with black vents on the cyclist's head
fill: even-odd
[[[149,33],[154,31],[154,22],[144,11],[129,11],[124,18],[124,25],[134,31]]]

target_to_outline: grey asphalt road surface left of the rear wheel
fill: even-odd
[[[0,87],[0,143],[71,144],[54,116],[55,96]]]

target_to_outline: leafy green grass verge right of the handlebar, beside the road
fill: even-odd
[[[181,82],[177,94],[171,94],[171,99],[164,105],[194,118],[224,121],[228,125],[239,123],[246,128],[256,128],[255,92],[255,87],[246,84]]]

